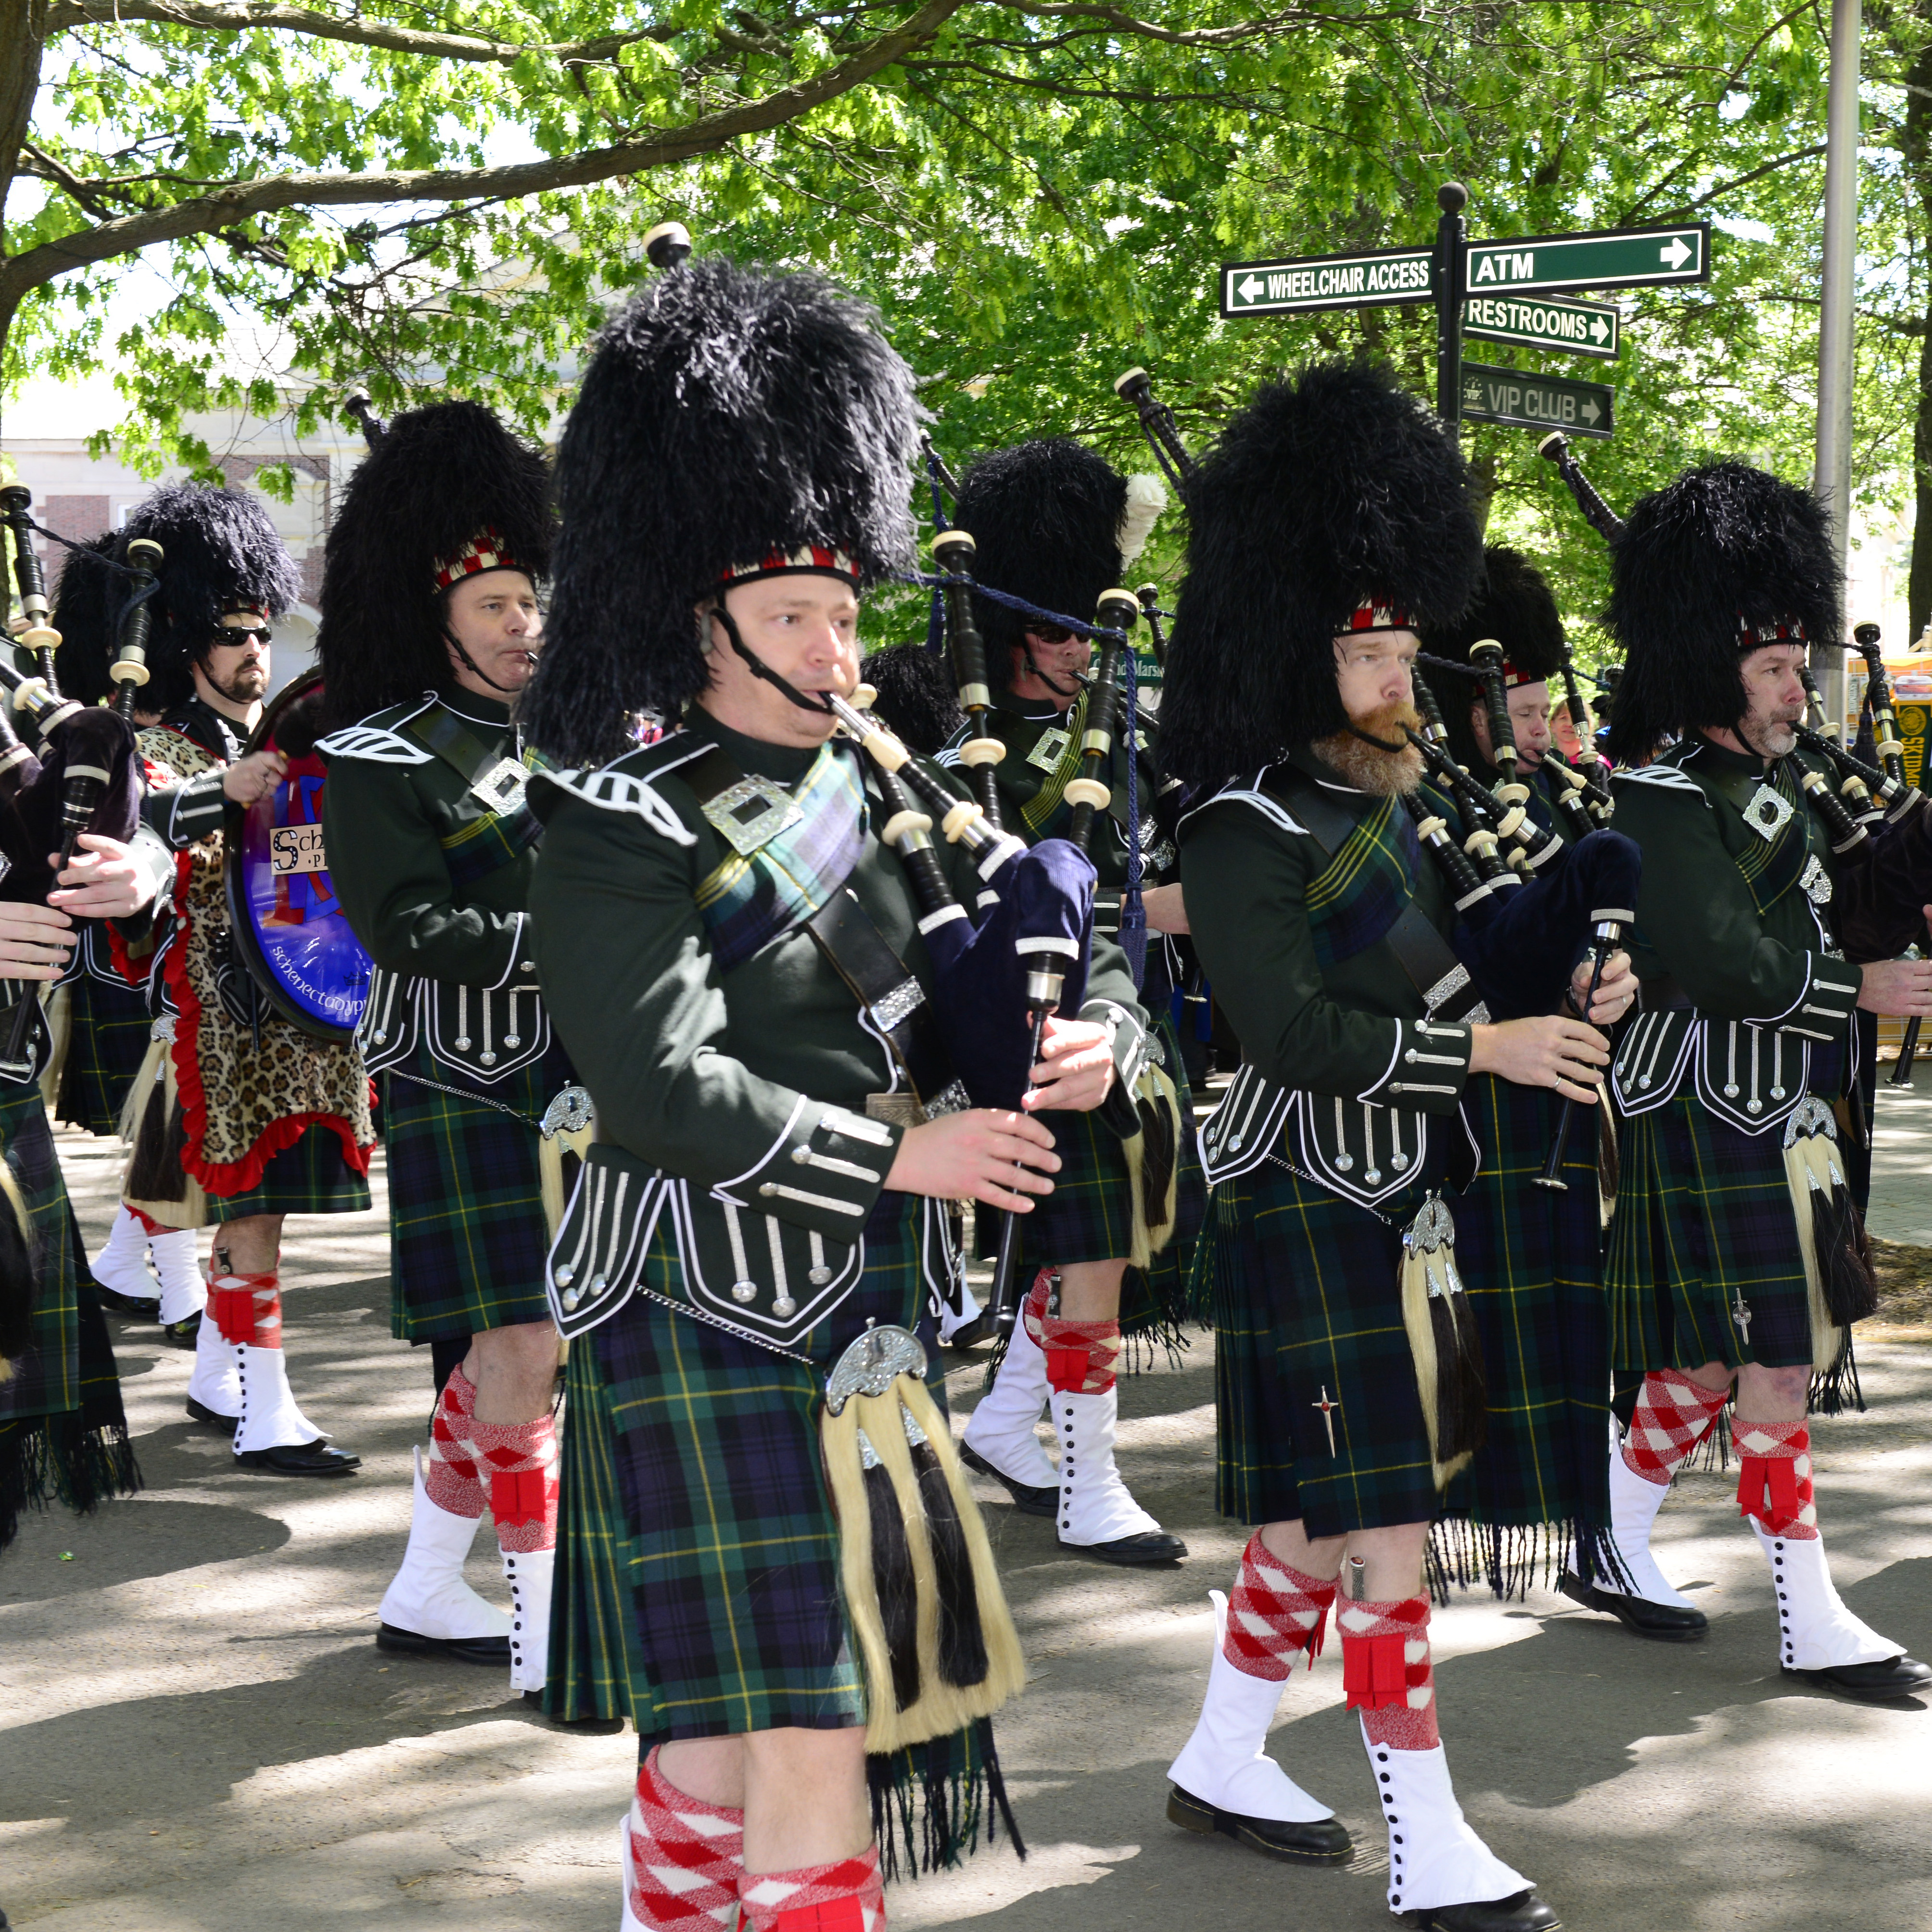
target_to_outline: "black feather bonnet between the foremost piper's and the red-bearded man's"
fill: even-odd
[[[974,541],[972,574],[1041,611],[1094,622],[1101,591],[1121,582],[1126,477],[1070,437],[1039,437],[993,450],[960,475],[952,522]],[[993,688],[1012,680],[1026,618],[974,599]]]

